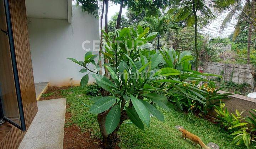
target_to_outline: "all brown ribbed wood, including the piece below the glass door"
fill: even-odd
[[[26,129],[28,129],[38,109],[36,92],[34,88],[30,44],[28,39],[25,0],[9,0],[9,5],[22,105],[25,116]],[[1,129],[6,129],[9,131],[3,131],[4,133],[1,134]],[[7,122],[4,125],[1,125],[0,149],[18,148],[25,133],[26,131],[21,131],[14,126],[11,126]]]

